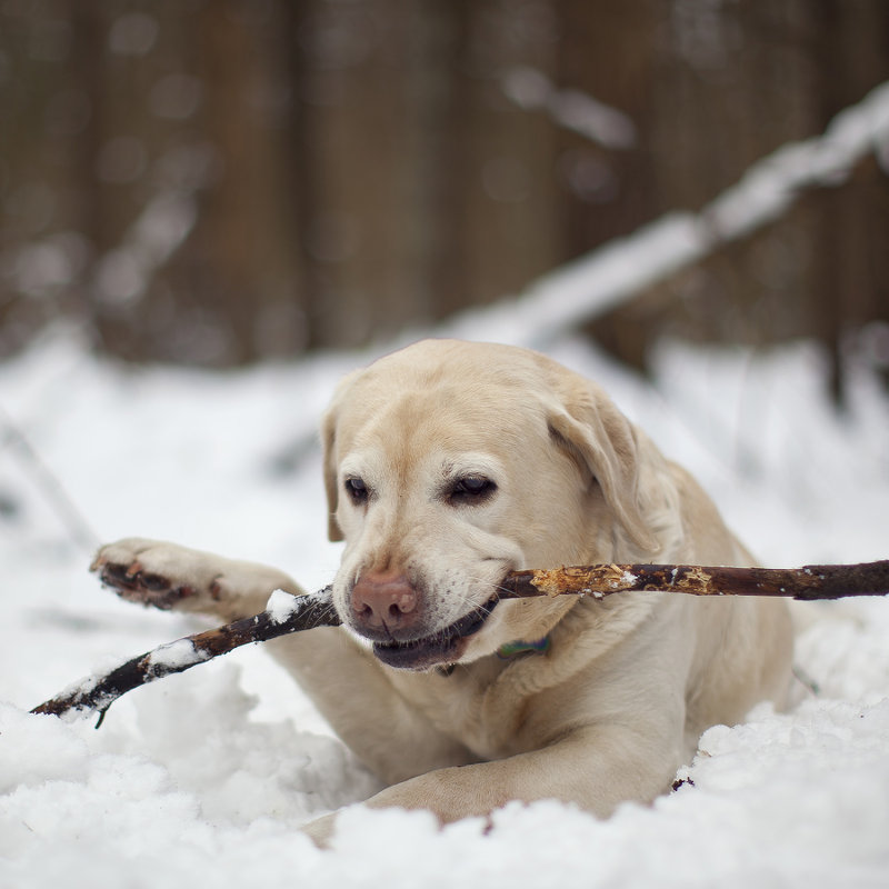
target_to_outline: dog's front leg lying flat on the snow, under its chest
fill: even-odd
[[[623,801],[650,802],[691,755],[685,737],[687,649],[681,633],[649,621],[576,673],[572,695],[555,686],[535,697],[526,729],[528,743],[537,738],[539,747],[429,771],[367,805],[430,809],[448,823],[486,817],[511,800],[559,799],[599,817]],[[629,675],[636,681],[628,687],[619,680]],[[306,831],[323,845],[334,820],[336,815],[319,819]]]

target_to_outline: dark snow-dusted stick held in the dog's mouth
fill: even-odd
[[[501,599],[535,596],[590,596],[660,591],[692,596],[781,596],[792,599],[839,599],[889,595],[889,560],[861,565],[817,565],[805,568],[711,568],[691,565],[593,565],[552,570],[513,571],[499,588]],[[123,693],[170,673],[182,672],[248,642],[336,627],[330,587],[310,596],[276,592],[264,611],[160,646],[101,677],[90,677],[41,703],[31,712],[64,716],[98,712]]]

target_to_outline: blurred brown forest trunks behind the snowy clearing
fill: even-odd
[[[210,367],[384,339],[888,80],[886,0],[0,0],[0,357],[59,318]],[[666,332],[889,368],[889,143],[588,332],[639,368]]]

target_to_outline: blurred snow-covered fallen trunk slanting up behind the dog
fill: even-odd
[[[773,222],[803,191],[842,183],[868,152],[885,157],[887,144],[889,82],[837,114],[821,136],[757,161],[700,212],[667,213],[540,278],[518,298],[460,314],[441,332],[472,338],[497,330],[498,339],[539,347]]]

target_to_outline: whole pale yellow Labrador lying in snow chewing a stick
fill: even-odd
[[[347,378],[323,440],[348,630],[270,648],[389,785],[370,805],[452,821],[558,798],[606,816],[667,789],[707,727],[780,705],[783,602],[497,602],[518,568],[752,561],[592,383],[527,350],[424,341]],[[129,598],[224,620],[276,588],[300,592],[272,569],[147,540],[103,548],[97,566]],[[513,642],[543,650],[506,657]]]

